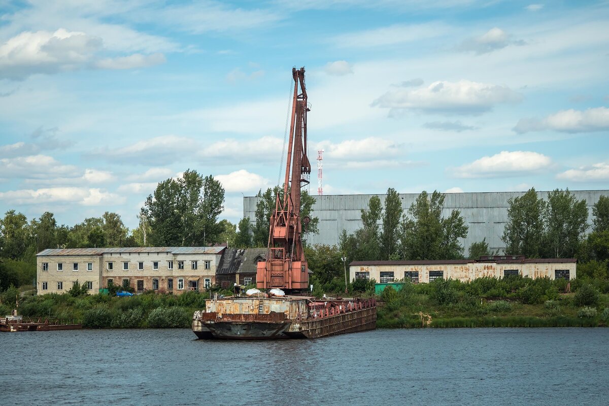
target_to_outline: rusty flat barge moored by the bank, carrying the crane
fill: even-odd
[[[192,317],[192,331],[205,340],[318,338],[375,328],[375,299],[235,296],[210,299]]]

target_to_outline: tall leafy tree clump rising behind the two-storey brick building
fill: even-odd
[[[150,243],[186,247],[216,240],[223,205],[224,188],[211,175],[203,178],[188,169],[177,180],[159,183],[143,208],[152,230]]]

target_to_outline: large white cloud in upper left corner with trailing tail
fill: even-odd
[[[83,68],[128,69],[164,62],[163,54],[105,58],[101,38],[60,28],[55,32],[24,31],[0,46],[0,79],[23,80],[33,74],[53,74]]]

